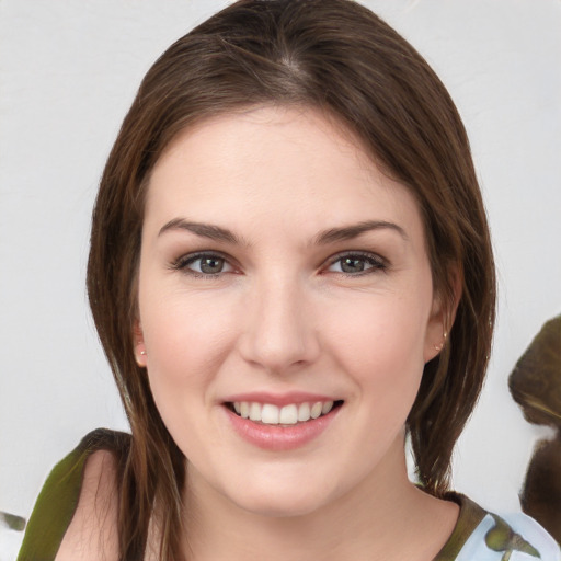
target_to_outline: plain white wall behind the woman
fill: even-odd
[[[28,516],[90,430],[126,430],[85,301],[89,217],[104,160],[156,57],[219,0],[0,2],[0,510]],[[367,5],[433,65],[466,122],[500,277],[494,351],[460,438],[455,486],[494,510],[542,431],[506,379],[561,311],[561,2]]]

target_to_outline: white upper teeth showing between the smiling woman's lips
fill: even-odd
[[[340,408],[343,401],[289,403],[284,407],[255,401],[234,401],[225,404],[241,419],[249,419],[254,423],[294,426],[327,415],[334,409]]]

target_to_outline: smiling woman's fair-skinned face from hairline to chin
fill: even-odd
[[[137,359],[198,496],[285,516],[403,480],[443,336],[421,215],[319,113],[256,108],[171,144],[138,299]]]

